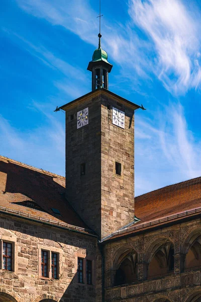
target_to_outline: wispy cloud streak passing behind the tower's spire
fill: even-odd
[[[87,0],[75,0],[66,3],[61,0],[17,0],[19,6],[27,13],[38,18],[44,18],[53,25],[61,25],[67,30],[78,35],[83,41],[97,47],[98,23],[97,12],[89,5]],[[104,20],[103,47],[107,49],[110,58],[121,66],[121,78],[118,81],[132,79],[130,89],[137,90],[139,78],[150,79],[149,60],[146,60],[145,49],[150,49],[150,43],[144,43],[138,35],[130,28],[129,23],[111,24]],[[142,51],[144,50],[144,55]],[[120,83],[118,83],[120,86]]]

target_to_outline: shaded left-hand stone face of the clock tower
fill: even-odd
[[[66,111],[66,198],[98,235],[101,228],[99,103],[99,97],[84,99]],[[77,129],[77,112],[87,107],[88,125]],[[81,175],[83,163],[85,175]]]

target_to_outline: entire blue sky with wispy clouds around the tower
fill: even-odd
[[[61,106],[91,89],[98,0],[1,0],[0,154],[65,174]],[[102,0],[110,90],[139,105],[135,195],[201,175],[201,4]]]

